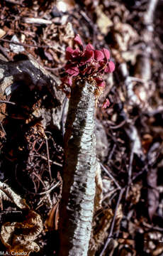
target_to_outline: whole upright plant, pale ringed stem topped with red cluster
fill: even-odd
[[[66,50],[64,89],[69,88],[69,110],[64,134],[64,172],[60,203],[60,256],[86,256],[91,236],[96,191],[96,137],[94,111],[98,91],[105,87],[104,73],[115,65],[106,48],[84,47],[77,35],[78,48]],[[109,101],[103,103],[108,107]]]

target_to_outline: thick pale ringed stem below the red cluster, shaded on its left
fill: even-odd
[[[60,256],[86,256],[94,212],[96,139],[95,87],[72,87],[64,137],[65,164],[60,206]]]

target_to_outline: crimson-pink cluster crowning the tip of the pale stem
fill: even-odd
[[[113,61],[110,59],[110,53],[106,48],[95,50],[90,43],[84,48],[79,35],[75,36],[74,43],[79,46],[76,49],[67,47],[65,73],[62,78],[64,85],[71,87],[72,79],[80,75],[81,78],[91,77],[96,81],[96,85],[104,87],[103,73],[112,73],[115,69]]]

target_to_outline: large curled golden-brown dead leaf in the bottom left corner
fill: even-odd
[[[8,252],[38,252],[39,246],[33,242],[43,230],[43,223],[38,213],[28,212],[22,223],[5,223],[1,227],[1,242]]]

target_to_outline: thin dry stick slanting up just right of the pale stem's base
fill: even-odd
[[[123,196],[124,191],[125,191],[125,188],[122,188],[120,190],[120,194],[119,194],[118,201],[117,201],[117,204],[116,204],[115,213],[114,213],[114,216],[113,216],[113,221],[111,223],[111,230],[110,230],[110,233],[108,235],[108,239],[106,240],[106,244],[103,247],[103,250],[101,251],[101,254],[99,256],[103,256],[103,252],[105,252],[106,247],[108,246],[109,242],[111,241],[111,238],[113,237],[113,228],[114,228],[114,225],[115,225],[115,222],[116,222],[116,213],[117,213],[118,206],[120,204],[120,201],[121,201],[121,198]]]

